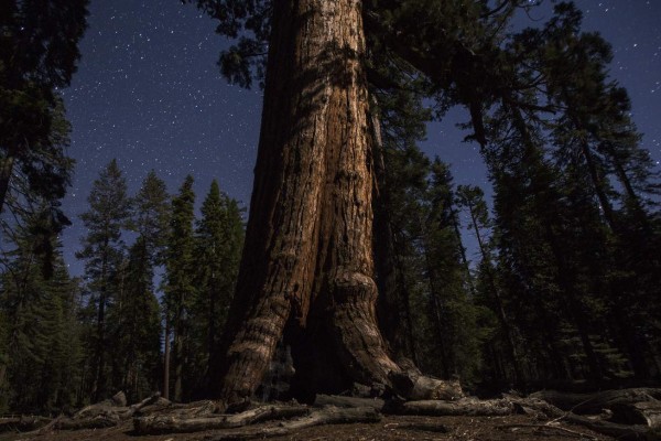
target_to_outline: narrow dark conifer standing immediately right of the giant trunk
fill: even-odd
[[[397,359],[410,358],[418,364],[411,304],[415,287],[407,260],[415,252],[411,245],[411,223],[420,217],[414,213],[421,208],[430,168],[418,142],[424,139],[424,123],[431,119],[431,112],[422,105],[420,89],[424,87],[412,80],[410,74],[404,63],[383,63],[381,69],[368,71],[368,78],[373,78],[372,205],[379,326]]]

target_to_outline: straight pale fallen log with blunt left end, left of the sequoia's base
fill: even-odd
[[[133,419],[133,428],[139,434],[188,433],[216,429],[232,429],[273,419],[288,419],[310,413],[307,406],[262,406],[240,413],[203,416],[171,412]]]

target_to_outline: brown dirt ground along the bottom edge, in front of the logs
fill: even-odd
[[[254,427],[259,427],[254,426]],[[219,431],[162,435],[136,435],[131,422],[111,429],[55,431],[50,433],[4,433],[0,441],[194,441],[213,440]],[[614,440],[583,427],[557,421],[537,421],[528,416],[508,417],[383,417],[378,423],[318,426],[270,440],[300,441],[567,441]]]

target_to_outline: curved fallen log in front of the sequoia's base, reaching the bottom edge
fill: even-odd
[[[371,407],[364,408],[337,408],[326,407],[314,410],[308,416],[291,421],[284,421],[278,426],[267,428],[251,428],[248,430],[232,430],[217,433],[207,438],[207,441],[250,440],[271,437],[283,437],[301,429],[323,424],[342,424],[357,422],[379,422],[381,415]]]

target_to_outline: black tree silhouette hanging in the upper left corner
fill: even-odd
[[[24,197],[56,202],[69,183],[68,125],[58,89],[68,86],[80,54],[87,0],[4,1],[0,7],[0,211],[14,175]],[[52,207],[57,233],[66,217]]]

